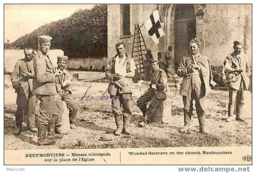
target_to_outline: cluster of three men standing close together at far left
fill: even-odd
[[[70,74],[65,69],[68,57],[58,56],[56,67],[48,54],[51,40],[52,37],[47,35],[39,36],[38,50],[25,48],[25,58],[17,61],[11,74],[17,92],[17,128],[14,133],[21,133],[23,119],[27,116],[27,128],[38,132],[38,145],[52,145],[55,139],[64,136],[61,130],[62,101],[69,110],[71,129],[76,128],[74,121],[78,112],[71,97]]]

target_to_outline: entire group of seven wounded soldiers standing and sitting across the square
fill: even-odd
[[[58,67],[54,67],[48,54],[51,46],[51,37],[43,35],[38,37],[38,51],[25,48],[25,58],[18,60],[12,72],[11,80],[17,92],[16,125],[17,134],[21,132],[22,117],[28,114],[27,126],[33,132],[38,131],[38,145],[52,145],[54,139],[62,138],[60,130],[62,117],[62,101],[69,109],[71,129],[75,129],[74,122],[78,108],[71,97],[69,73],[66,71],[68,57],[58,56]],[[209,59],[199,51],[201,42],[194,38],[190,40],[190,55],[184,56],[177,69],[177,75],[183,77],[180,86],[180,95],[184,103],[184,127],[181,133],[190,133],[190,122],[193,114],[193,101],[199,120],[199,133],[205,134],[206,114],[204,97],[211,87],[215,87],[211,73]],[[131,134],[130,117],[132,113],[132,78],[135,76],[135,62],[126,53],[126,45],[119,42],[115,45],[116,55],[109,59],[106,77],[109,80],[108,93],[111,97],[111,108],[116,122],[115,135]],[[229,105],[227,122],[235,120],[244,121],[242,107],[244,104],[244,90],[249,87],[249,64],[247,57],[242,53],[242,43],[234,42],[234,51],[224,61],[225,74],[229,87]],[[171,51],[171,48],[169,49]],[[167,74],[166,69],[159,67],[159,60],[147,53],[150,64],[150,85],[146,92],[137,99],[137,106],[143,117],[140,127],[145,127],[154,116],[157,106],[166,99]],[[236,103],[235,103],[236,101]],[[147,106],[147,103],[149,106]],[[39,108],[39,115],[36,110]],[[37,120],[37,128],[36,128]]]

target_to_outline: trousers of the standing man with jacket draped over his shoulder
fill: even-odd
[[[202,86],[201,77],[199,74],[192,74],[191,78],[191,92],[190,95],[183,96],[184,103],[184,112],[192,114],[193,112],[193,101],[195,100],[195,106],[197,114],[203,114],[204,109],[204,95],[202,95]]]

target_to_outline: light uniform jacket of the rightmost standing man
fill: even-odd
[[[239,57],[235,56],[235,53],[230,53],[225,59],[225,74],[228,86],[230,88],[239,90],[240,83],[243,81],[246,89],[249,87],[249,72],[250,67],[248,63],[247,56],[244,53],[241,53]],[[232,72],[236,67],[240,67],[243,71],[241,73]]]

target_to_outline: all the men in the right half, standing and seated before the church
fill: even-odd
[[[199,39],[191,39],[189,42],[190,54],[181,59],[177,69],[177,75],[183,77],[180,85],[180,95],[182,95],[184,103],[184,127],[179,130],[181,133],[190,133],[193,101],[195,100],[199,120],[199,134],[207,134],[204,97],[209,93],[211,87],[215,87],[217,83],[213,81],[210,61],[200,53],[200,47],[201,42]],[[242,52],[242,48],[242,43],[235,41],[234,51],[224,61],[225,75],[227,76],[229,88],[227,122],[234,119],[245,121],[242,116],[242,108],[244,91],[248,90],[249,87],[250,68],[247,56]],[[165,62],[171,59],[170,52],[171,46],[168,47],[164,60],[158,60],[158,58],[153,57],[151,51],[146,53],[145,63],[147,68],[145,72],[149,74],[149,69],[152,72],[150,72],[151,83],[149,88],[137,99],[137,106],[143,114],[143,118],[139,122],[140,127],[145,127],[150,122],[157,106],[166,99],[168,64]],[[107,79],[110,81],[108,92],[111,96],[112,110],[116,120],[117,129],[114,132],[115,135],[131,133],[128,129],[132,112],[131,100],[133,99],[130,88],[132,84],[131,78],[135,75],[135,69],[133,59],[126,54],[125,44],[122,42],[117,43],[116,55],[109,60],[106,72]],[[149,78],[147,74],[145,74],[146,79]],[[147,106],[148,102],[150,102],[149,106]],[[234,111],[235,104],[236,111]],[[234,114],[236,114],[236,118],[234,118]]]

